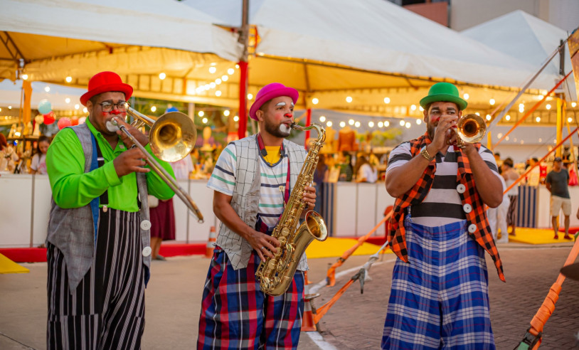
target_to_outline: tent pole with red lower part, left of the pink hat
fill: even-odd
[[[243,139],[248,129],[248,44],[249,44],[249,0],[243,0],[241,11],[241,31],[239,42],[243,44],[243,54],[239,60],[239,128],[238,137]]]

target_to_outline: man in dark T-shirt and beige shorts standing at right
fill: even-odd
[[[569,223],[571,215],[571,198],[569,196],[569,172],[561,166],[561,157],[553,159],[553,170],[549,171],[545,184],[549,192],[551,192],[551,223],[555,236],[553,239],[558,239],[559,235],[559,221],[558,216],[561,209],[565,216],[565,236],[563,239],[573,239],[569,235]]]

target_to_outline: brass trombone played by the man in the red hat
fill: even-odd
[[[149,144],[156,157],[164,161],[179,161],[189,155],[191,149],[195,146],[197,139],[197,129],[193,121],[181,112],[169,112],[153,120],[152,118],[142,115],[127,105],[127,115],[134,118],[133,127],[142,127],[144,124],[149,125]],[[163,169],[161,165],[152,157],[147,149],[140,144],[132,134],[127,131],[124,125],[118,124],[115,119],[111,123],[126,134],[133,144],[138,147],[147,157],[147,162],[151,169],[169,186],[187,208],[197,217],[199,223],[203,223],[203,214],[197,208],[191,196],[181,189],[177,181]]]

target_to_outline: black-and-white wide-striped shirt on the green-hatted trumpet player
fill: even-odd
[[[492,152],[481,145],[479,154],[496,176],[500,177]],[[410,159],[412,159],[410,142],[399,144],[390,153],[386,176],[388,176],[388,171],[403,166]],[[440,152],[436,154],[436,171],[432,187],[422,203],[410,208],[413,223],[433,227],[455,223],[466,218],[460,195],[457,192],[457,172],[457,153],[454,147],[448,147],[445,156]]]

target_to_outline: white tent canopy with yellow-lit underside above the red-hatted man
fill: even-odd
[[[67,75],[90,78],[102,67],[119,73],[142,68],[138,73],[146,73],[151,65],[191,69],[214,55],[236,60],[240,46],[235,36],[213,21],[177,1],[3,0],[0,31],[7,32],[3,39],[8,47],[0,46],[0,76],[14,80],[14,61],[20,58],[33,80],[47,81]],[[187,55],[187,68],[171,67],[175,50],[199,55]]]

